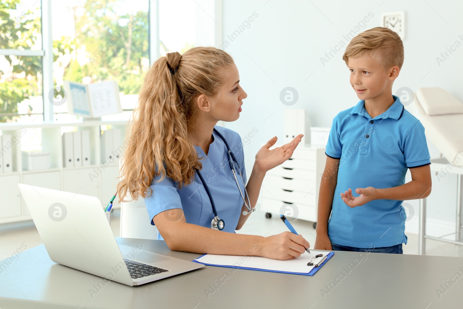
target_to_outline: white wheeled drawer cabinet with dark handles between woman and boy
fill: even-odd
[[[291,158],[267,172],[261,189],[261,209],[316,222],[325,162],[323,146],[298,145]]]

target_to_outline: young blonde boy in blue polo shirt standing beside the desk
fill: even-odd
[[[403,59],[402,41],[388,28],[362,32],[346,47],[343,60],[360,101],[332,123],[315,249],[401,254],[407,244],[401,204],[431,193],[424,128],[392,95]]]

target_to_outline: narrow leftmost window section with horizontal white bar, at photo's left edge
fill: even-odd
[[[0,122],[43,119],[41,3],[0,2]]]

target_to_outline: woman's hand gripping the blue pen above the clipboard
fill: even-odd
[[[300,234],[291,232],[264,237],[259,245],[261,256],[269,259],[294,259],[306,252],[310,244]]]

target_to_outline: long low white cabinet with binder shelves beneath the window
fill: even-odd
[[[0,123],[1,134],[12,136],[11,145],[0,148],[4,156],[5,152],[11,155],[13,169],[10,172],[0,172],[0,224],[31,220],[27,206],[20,197],[18,183],[96,196],[101,204],[106,206],[116,192],[119,166],[116,162],[107,164],[101,161],[102,131],[115,129],[117,142],[114,142],[113,151],[120,154],[124,150],[121,145],[125,139],[126,127],[127,121],[124,120],[87,120],[85,123]],[[41,142],[42,151],[50,153],[50,169],[33,171],[23,169],[21,145],[24,143],[30,146],[28,144],[31,138],[31,134],[28,133],[30,129],[35,132],[34,134],[41,135],[38,140]],[[78,131],[85,131],[84,140],[88,145],[88,151],[85,152],[89,164],[64,167],[63,132]],[[80,154],[80,151],[77,152]],[[119,208],[119,205],[114,203],[114,208]]]

